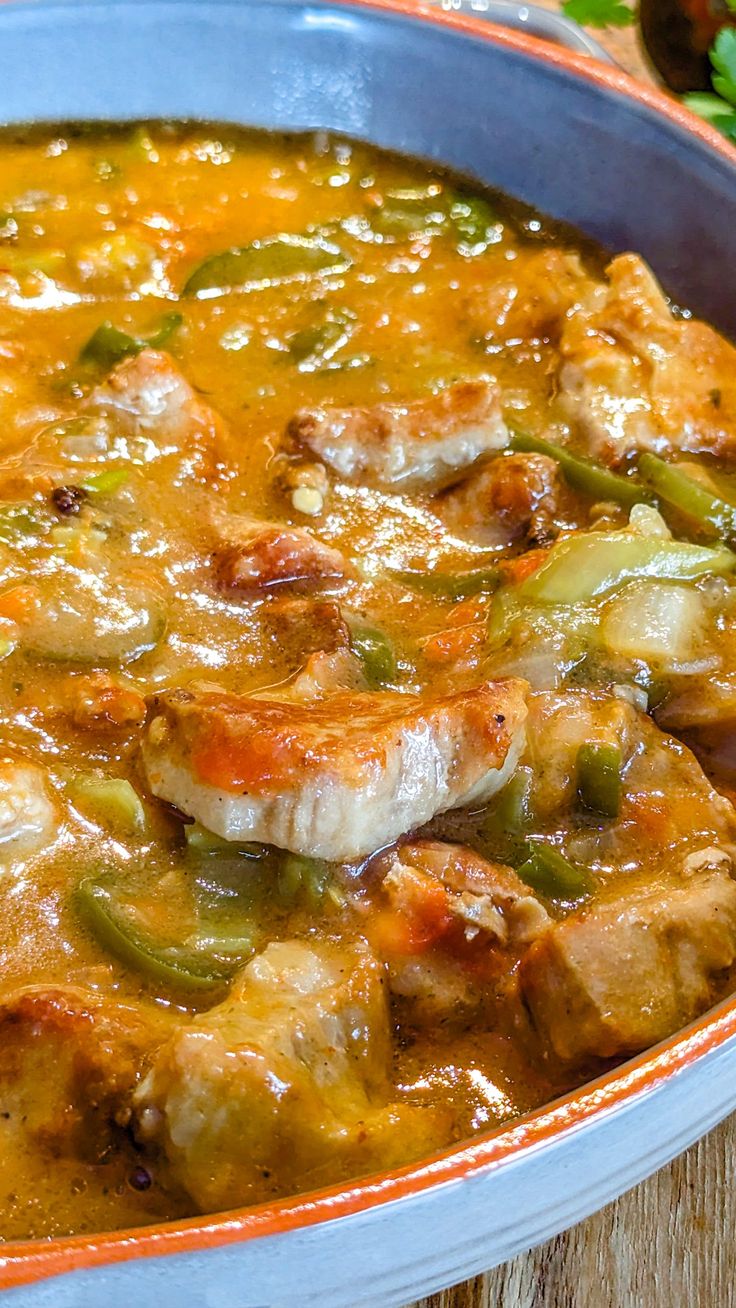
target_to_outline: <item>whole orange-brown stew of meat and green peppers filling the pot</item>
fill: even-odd
[[[736,356],[233,127],[0,140],[4,1239],[488,1130],[736,963]]]

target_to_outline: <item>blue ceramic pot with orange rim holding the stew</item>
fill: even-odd
[[[401,0],[0,5],[0,119],[146,116],[327,127],[441,161],[638,250],[736,331],[736,154],[584,55]],[[731,999],[425,1164],[242,1214],[4,1245],[0,1287],[13,1308],[387,1308],[579,1220],[733,1107]]]

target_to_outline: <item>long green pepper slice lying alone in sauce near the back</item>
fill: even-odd
[[[320,235],[277,235],[209,255],[190,273],[183,296],[225,296],[285,281],[346,272],[350,258]]]

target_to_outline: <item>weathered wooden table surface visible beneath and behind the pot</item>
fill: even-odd
[[[595,35],[654,80],[631,29]],[[421,1308],[732,1308],[735,1155],[736,1116],[596,1216]]]

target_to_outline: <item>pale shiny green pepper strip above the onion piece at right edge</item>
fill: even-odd
[[[684,540],[642,536],[633,531],[591,531],[553,545],[543,566],[522,582],[519,595],[545,604],[579,604],[626,581],[694,581],[733,572],[736,555]]]

